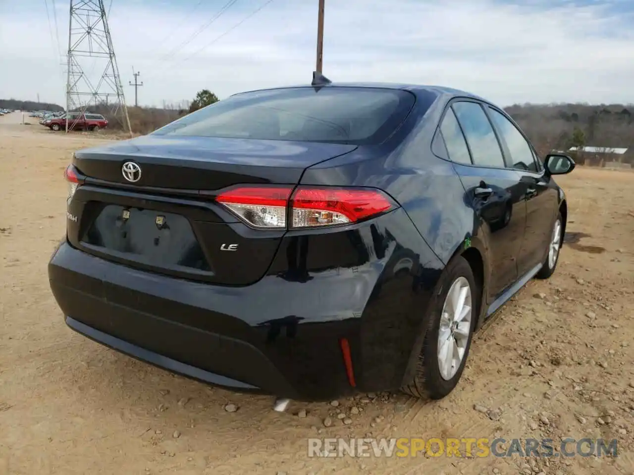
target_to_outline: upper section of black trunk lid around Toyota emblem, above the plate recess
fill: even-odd
[[[349,153],[355,145],[281,140],[144,136],[75,153],[82,174],[131,184],[126,162],[141,169],[135,187],[216,190],[233,184],[296,184],[307,167]]]

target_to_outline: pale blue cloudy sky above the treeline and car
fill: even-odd
[[[127,102],[133,67],[141,105],[311,79],[318,0],[235,0],[217,16],[227,3],[112,0]],[[326,3],[323,71],[332,80],[448,85],[503,106],[634,103],[634,0]],[[0,98],[65,102],[68,5],[0,0]],[[100,63],[81,65],[100,75]]]

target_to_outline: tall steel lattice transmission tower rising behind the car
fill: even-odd
[[[66,113],[103,111],[131,132],[103,0],[70,0]],[[76,121],[66,121],[66,131]]]

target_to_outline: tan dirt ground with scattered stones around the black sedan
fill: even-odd
[[[476,336],[450,396],[292,402],[279,414],[269,397],[173,376],[65,326],[46,273],[65,232],[62,173],[100,139],[21,119],[0,117],[0,474],[634,473],[634,173],[578,167],[558,179],[569,203],[559,268]],[[307,456],[307,438],[339,436],[617,438],[619,455]]]

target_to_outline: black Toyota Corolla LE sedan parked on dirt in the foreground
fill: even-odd
[[[474,94],[318,76],[77,151],[49,282],[75,331],[207,383],[442,398],[555,271],[573,168]]]

